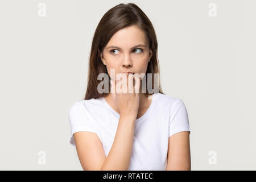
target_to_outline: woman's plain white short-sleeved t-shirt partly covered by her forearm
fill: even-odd
[[[117,131],[119,114],[104,97],[77,101],[69,111],[70,143],[77,131],[96,133],[108,156]],[[180,131],[189,131],[187,109],[180,98],[154,93],[146,113],[136,119],[129,171],[166,170],[168,138]]]

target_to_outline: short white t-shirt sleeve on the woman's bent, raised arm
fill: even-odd
[[[78,131],[90,131],[93,133],[97,133],[92,124],[89,122],[85,110],[82,108],[82,106],[77,104],[77,102],[75,102],[75,104],[71,106],[68,119],[71,126],[71,136],[69,143],[73,146],[76,146],[75,139],[73,137],[74,133]]]

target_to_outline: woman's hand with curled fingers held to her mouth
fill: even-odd
[[[120,115],[135,116],[137,118],[139,109],[139,77],[132,73],[123,73],[126,79],[126,89],[122,88],[122,79],[118,81],[110,80],[112,97],[115,105],[118,107]],[[122,77],[123,78],[123,77]],[[135,84],[134,84],[135,81]],[[119,86],[121,84],[121,86]]]

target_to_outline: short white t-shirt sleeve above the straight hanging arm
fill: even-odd
[[[174,106],[170,110],[170,119],[169,119],[169,137],[180,131],[189,131],[190,126],[188,121],[187,109],[180,98],[174,103]]]

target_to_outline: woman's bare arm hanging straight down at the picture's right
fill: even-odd
[[[191,170],[189,131],[181,131],[169,137],[166,171],[171,170]]]

